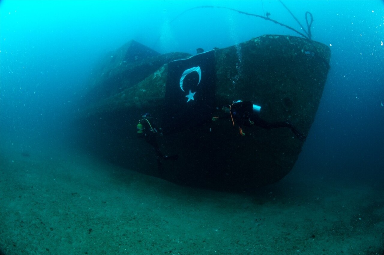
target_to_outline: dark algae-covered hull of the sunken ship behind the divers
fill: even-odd
[[[115,54],[118,52],[121,61],[126,61],[123,59],[127,52]],[[231,119],[213,122],[207,118],[198,126],[159,135],[161,152],[179,156],[177,160],[161,160],[159,165],[154,147],[137,137],[136,125],[144,113],[151,113],[149,121],[153,126],[159,129],[164,125],[168,63],[186,57],[181,53],[156,54],[129,62],[131,69],[138,65],[152,67],[146,78],[134,85],[126,82],[138,80],[134,72],[119,71],[116,64],[109,67],[104,62],[103,70],[114,68],[119,77],[108,79],[118,84],[111,84],[112,95],[88,99],[78,116],[78,124],[85,127],[82,144],[129,169],[182,185],[245,190],[283,178],[295,164],[304,141],[288,128],[245,127],[246,135],[240,136]],[[155,70],[151,65],[154,59]],[[265,35],[215,49],[213,104],[217,109],[212,116],[220,114],[221,107],[233,100],[252,101],[261,106],[261,118],[268,122],[290,121],[308,135],[326,82],[329,59],[329,47],[293,36]],[[146,70],[140,70],[141,77],[145,76]],[[126,77],[121,75],[124,72]],[[106,87],[106,79],[94,80],[95,90]]]

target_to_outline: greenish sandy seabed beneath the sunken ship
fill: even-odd
[[[254,193],[175,185],[78,153],[0,154],[13,254],[379,254],[384,185],[285,178]]]

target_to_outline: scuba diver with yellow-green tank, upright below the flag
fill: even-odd
[[[144,138],[148,144],[154,147],[157,160],[157,167],[159,168],[159,172],[162,175],[164,173],[162,160],[176,160],[178,159],[179,155],[168,156],[162,154],[162,152],[160,151],[159,144],[157,143],[157,134],[162,136],[161,129],[159,129],[158,132],[155,127],[152,127],[151,123],[149,123],[149,118],[151,118],[151,114],[146,113],[142,116],[142,119],[139,120],[139,123],[136,126],[137,137]]]

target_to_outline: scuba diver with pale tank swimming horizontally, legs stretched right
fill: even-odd
[[[291,129],[293,134],[298,137],[298,139],[305,140],[306,136],[300,131],[298,131],[298,129],[296,129],[296,127],[288,121],[278,121],[269,123],[260,118],[260,116],[258,116],[258,113],[260,113],[260,109],[260,106],[253,105],[253,103],[250,101],[233,101],[232,105],[230,105],[229,108],[225,106],[222,108],[222,110],[224,111],[224,116],[213,117],[212,121],[216,121],[219,118],[231,118],[233,126],[235,126],[235,123],[238,125],[241,136],[245,136],[245,133],[243,132],[243,126],[249,127],[256,125],[265,129],[288,127],[289,129]]]

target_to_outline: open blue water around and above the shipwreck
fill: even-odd
[[[382,1],[286,1],[312,39],[331,47],[331,69],[293,175],[384,180]],[[160,52],[227,47],[301,31],[278,1],[7,1],[0,3],[0,141],[35,149],[65,144],[97,60],[134,39]],[[183,13],[186,11],[185,13]],[[183,13],[182,15],[180,15]],[[180,15],[180,16],[179,16]],[[177,18],[176,18],[177,17]],[[3,147],[4,148],[4,147]]]

